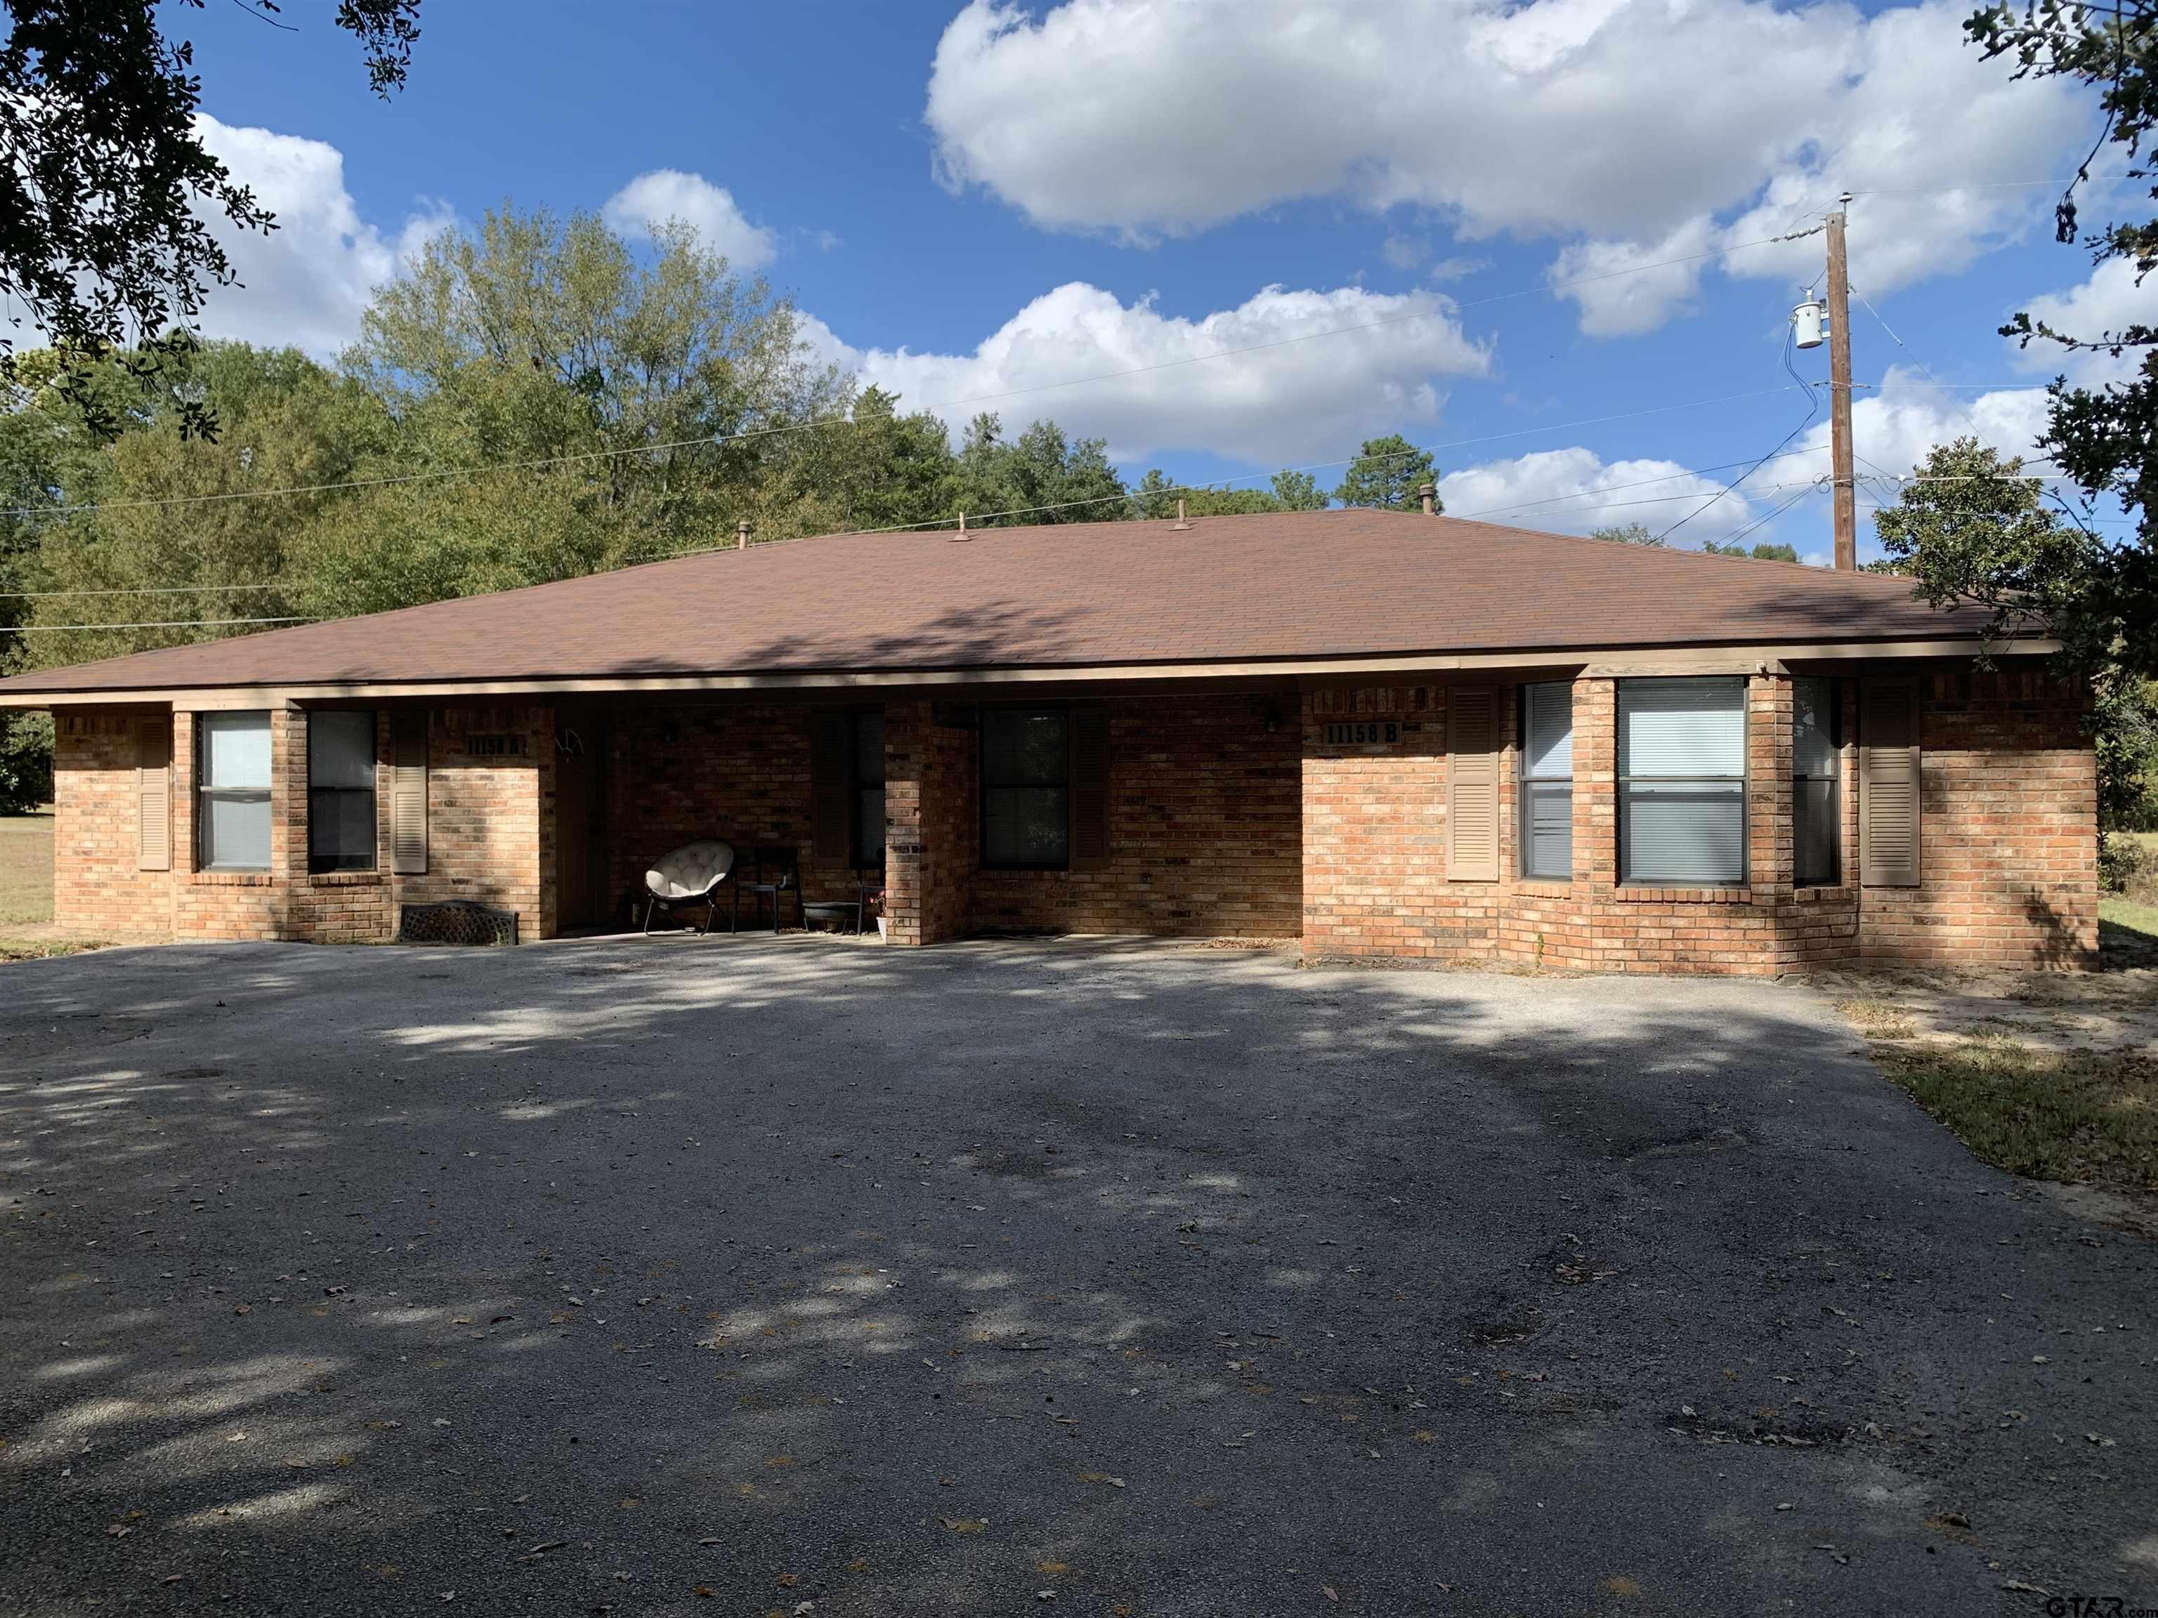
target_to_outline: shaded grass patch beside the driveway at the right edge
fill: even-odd
[[[1873,1059],[1977,1156],[2033,1180],[2158,1191],[2158,1057],[2011,1038],[1880,1044]]]

